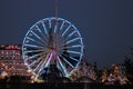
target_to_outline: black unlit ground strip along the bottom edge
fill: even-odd
[[[0,89],[133,89],[133,85],[103,85],[98,82],[0,82]]]

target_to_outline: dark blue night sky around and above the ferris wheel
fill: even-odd
[[[0,44],[21,44],[29,28],[54,17],[54,9],[55,0],[0,0]],[[59,17],[79,29],[90,63],[122,62],[133,47],[133,0],[59,0]]]

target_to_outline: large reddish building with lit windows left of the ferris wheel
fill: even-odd
[[[7,72],[8,76],[30,76],[21,57],[20,44],[0,46],[0,76]]]

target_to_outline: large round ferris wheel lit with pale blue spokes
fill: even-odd
[[[80,65],[83,41],[79,30],[62,18],[45,18],[34,23],[22,43],[22,57],[28,69],[39,77],[55,62],[63,76],[70,76]]]

